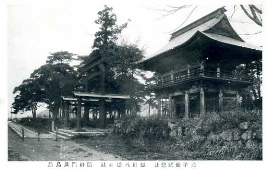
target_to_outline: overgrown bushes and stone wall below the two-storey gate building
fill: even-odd
[[[130,145],[172,141],[204,159],[262,159],[262,115],[258,110],[209,112],[195,119],[124,117],[114,132]]]

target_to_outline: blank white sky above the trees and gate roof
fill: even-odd
[[[65,2],[65,3],[64,3]],[[180,1],[94,1],[97,3],[66,3],[57,1],[51,4],[17,4],[8,6],[8,107],[13,102],[12,91],[23,79],[29,78],[34,69],[45,64],[50,52],[69,51],[88,55],[98,25],[94,24],[97,12],[106,4],[113,7],[120,25],[128,19],[128,27],[122,36],[129,42],[137,42],[146,47],[150,55],[168,43],[170,33],[181,25],[193,7],[184,9],[172,16],[162,17],[165,5],[181,6]],[[74,1],[73,1],[74,2]],[[79,1],[80,2],[80,1]],[[84,1],[82,1],[84,2]],[[198,6],[187,25],[200,17],[222,7]],[[233,5],[226,6],[225,14],[230,17]],[[252,34],[261,31],[251,22],[239,7],[230,22],[238,34]],[[246,35],[241,38],[254,45],[262,45],[262,33]]]

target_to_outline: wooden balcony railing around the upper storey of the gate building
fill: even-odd
[[[173,84],[181,81],[191,80],[197,77],[211,77],[211,78],[218,78],[218,79],[229,79],[229,80],[241,80],[241,81],[248,81],[252,82],[247,76],[238,74],[238,73],[231,73],[231,72],[217,72],[217,71],[210,71],[201,69],[200,66],[192,67],[187,70],[182,71],[175,71],[173,73],[164,74],[162,76],[156,77],[155,81],[146,82],[147,88],[155,88],[159,86],[164,86],[168,84]]]

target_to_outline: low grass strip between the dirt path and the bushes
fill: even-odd
[[[192,151],[183,148],[173,141],[164,141],[148,145],[129,145],[117,135],[92,136],[76,138],[75,142],[98,151],[115,154],[127,160],[198,160],[200,157]]]

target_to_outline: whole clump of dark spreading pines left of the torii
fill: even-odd
[[[18,93],[13,103],[15,113],[32,110],[36,118],[38,103],[48,104],[55,119],[61,105],[61,96],[72,96],[72,91],[79,88],[77,72],[70,62],[74,54],[67,51],[51,53],[47,64],[35,69],[29,79],[14,89]]]

